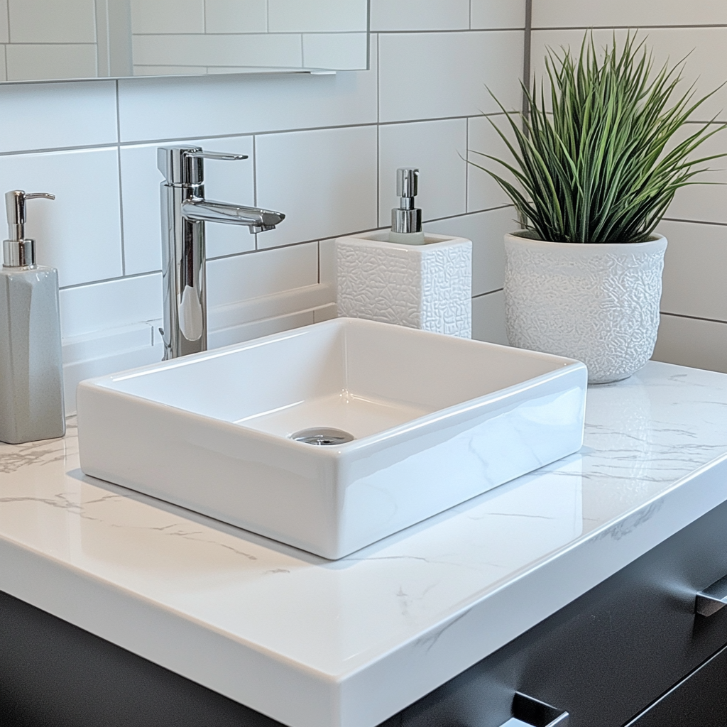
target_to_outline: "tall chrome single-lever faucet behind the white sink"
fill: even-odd
[[[164,360],[207,348],[204,223],[247,225],[251,233],[273,230],[282,212],[204,198],[204,159],[238,161],[245,154],[199,147],[158,148],[161,182],[161,267],[164,285]]]

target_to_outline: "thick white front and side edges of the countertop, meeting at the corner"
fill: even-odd
[[[340,680],[2,538],[0,579],[10,595],[283,723],[375,727],[725,502],[726,482],[724,455]]]

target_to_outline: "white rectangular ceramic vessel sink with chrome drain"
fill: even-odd
[[[586,379],[568,358],[339,318],[81,382],[81,468],[342,558],[577,451]]]

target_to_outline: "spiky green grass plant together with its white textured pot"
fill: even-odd
[[[654,232],[675,192],[699,183],[693,158],[727,125],[691,114],[677,91],[683,62],[654,71],[644,41],[630,34],[599,54],[586,33],[579,55],[548,51],[546,84],[523,86],[525,115],[505,112],[514,134],[506,179],[480,164],[515,204],[523,230],[505,236],[507,336],[519,348],[583,361],[589,381],[618,381],[654,352],[666,239]],[[498,102],[499,103],[499,102]],[[678,134],[682,130],[682,134]]]

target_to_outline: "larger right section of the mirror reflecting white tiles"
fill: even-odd
[[[364,2],[133,0],[134,73],[362,68],[367,20]]]

